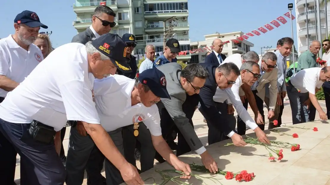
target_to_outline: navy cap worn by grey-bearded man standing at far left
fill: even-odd
[[[39,26],[45,29],[48,28],[48,26],[40,22],[39,16],[37,15],[36,12],[31,12],[28,10],[24,10],[23,12],[18,13],[14,20],[14,23],[25,24],[26,26],[31,28],[35,28]]]

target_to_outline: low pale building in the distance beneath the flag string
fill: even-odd
[[[197,42],[191,42],[190,43],[190,49],[199,49],[199,48],[205,48],[208,47],[211,49],[212,42],[215,38],[219,38],[222,41],[229,40],[229,43],[223,44],[222,54],[224,54],[226,57],[235,54],[245,54],[246,52],[250,51],[250,48],[254,46],[253,43],[249,42],[248,40],[239,41],[239,43],[234,43],[232,39],[236,39],[239,36],[244,35],[243,32],[232,32],[232,33],[215,33],[211,35],[204,35],[205,40],[203,41],[197,41]],[[205,54],[206,51],[195,51],[191,53],[191,59],[190,63],[204,63],[205,62]]]

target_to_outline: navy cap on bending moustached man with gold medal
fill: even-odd
[[[159,98],[169,98],[166,89],[166,78],[163,72],[157,68],[146,69],[139,74],[139,81],[148,85],[151,92]]]

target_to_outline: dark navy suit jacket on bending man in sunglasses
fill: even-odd
[[[216,59],[216,61],[218,60]],[[213,101],[213,96],[218,87],[215,81],[215,69],[219,64],[201,63],[201,65],[209,72],[209,77],[199,91],[200,107],[198,109],[210,124],[227,135],[233,130],[229,127],[228,123],[224,123],[223,120],[221,120],[221,113],[219,113]],[[227,114],[227,112],[222,112],[222,114]]]

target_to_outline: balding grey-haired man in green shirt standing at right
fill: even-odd
[[[318,67],[318,64],[316,62],[316,55],[318,54],[320,49],[321,49],[320,41],[313,40],[309,50],[305,51],[299,56],[297,72],[311,67]]]

